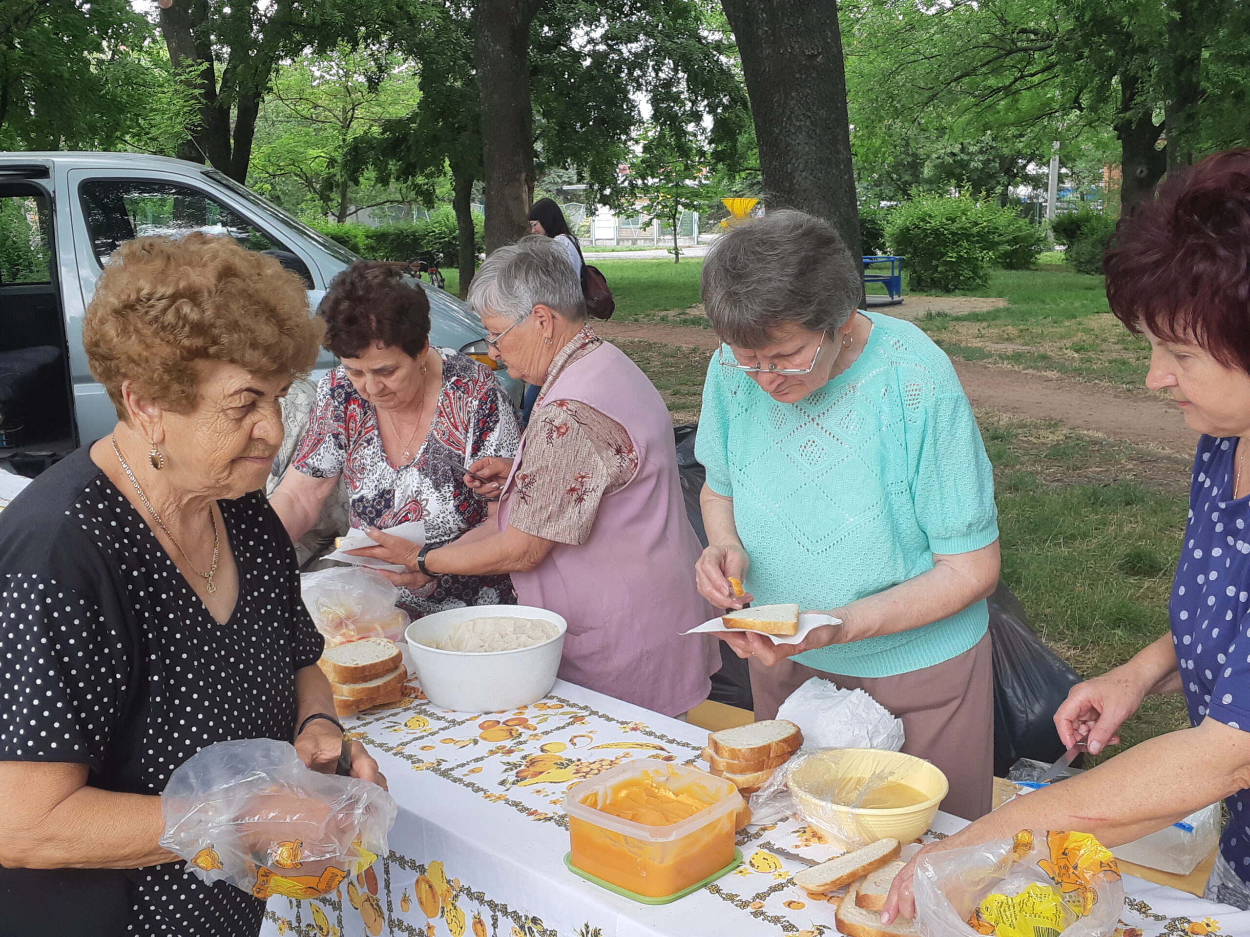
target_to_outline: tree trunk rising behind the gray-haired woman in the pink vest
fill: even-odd
[[[524,236],[534,195],[530,24],[541,0],[478,0],[474,61],[481,97],[486,252]]]

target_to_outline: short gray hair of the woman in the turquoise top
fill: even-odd
[[[704,310],[720,340],[740,349],[771,344],[788,324],[834,331],[862,291],[861,265],[834,226],[801,211],[770,211],[734,227],[704,259]]]

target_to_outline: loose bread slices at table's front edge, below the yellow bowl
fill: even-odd
[[[838,930],[846,937],[918,937],[920,931],[911,921],[899,918],[881,923],[881,908],[890,886],[905,865],[899,858],[900,850],[898,840],[880,840],[805,868],[790,881],[806,891],[810,901],[836,905]]]

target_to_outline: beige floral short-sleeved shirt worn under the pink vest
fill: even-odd
[[[514,480],[509,525],[558,543],[585,542],[600,500],[638,471],[638,452],[624,426],[581,401],[548,399],[560,372],[602,342],[588,325],[555,356]]]

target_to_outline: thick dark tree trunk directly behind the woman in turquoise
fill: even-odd
[[[755,117],[769,207],[830,221],[860,250],[836,0],[721,0]]]

